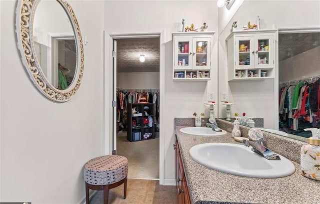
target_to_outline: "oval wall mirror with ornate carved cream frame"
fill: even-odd
[[[83,44],[71,6],[65,0],[20,0],[16,34],[22,62],[47,98],[68,101],[83,74]]]

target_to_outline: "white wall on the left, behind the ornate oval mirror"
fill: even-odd
[[[78,204],[85,196],[82,167],[103,153],[104,2],[67,1],[89,44],[78,92],[56,103],[37,91],[21,62],[17,1],[0,0],[0,202]]]

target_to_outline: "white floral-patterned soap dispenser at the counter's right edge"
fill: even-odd
[[[304,131],[311,131],[312,137],[308,138],[308,144],[301,147],[301,172],[309,179],[320,181],[320,129],[305,128]]]

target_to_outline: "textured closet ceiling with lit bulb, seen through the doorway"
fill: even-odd
[[[158,72],[159,38],[128,38],[116,40],[117,72]],[[140,62],[140,54],[145,61]]]

